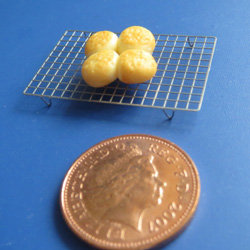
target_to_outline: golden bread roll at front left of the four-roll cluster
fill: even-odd
[[[113,50],[102,50],[91,55],[82,65],[84,81],[95,88],[104,87],[117,79],[119,55]]]

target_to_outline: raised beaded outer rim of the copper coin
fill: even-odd
[[[154,235],[151,237],[148,237],[143,240],[138,241],[131,241],[131,242],[125,242],[125,243],[116,243],[108,240],[103,240],[100,238],[97,238],[88,232],[86,232],[84,229],[79,227],[77,223],[71,218],[70,212],[67,212],[67,182],[72,177],[73,173],[76,171],[77,166],[80,165],[82,162],[81,158],[85,159],[88,157],[91,153],[96,151],[97,149],[108,145],[109,143],[113,143],[114,141],[119,140],[126,140],[126,139],[146,139],[146,140],[152,140],[156,141],[158,143],[162,143],[163,145],[170,146],[175,152],[179,153],[185,162],[187,163],[188,167],[190,168],[190,172],[192,174],[192,182],[193,182],[193,193],[191,196],[191,202],[188,204],[187,209],[185,210],[184,214],[177,220],[174,225],[161,232],[158,235]],[[85,156],[85,157],[84,157]],[[87,242],[88,244],[95,246],[97,248],[101,249],[145,249],[150,248],[153,246],[157,246],[160,243],[163,243],[165,241],[171,241],[173,238],[177,237],[189,224],[191,219],[193,218],[194,212],[196,211],[198,202],[200,197],[200,178],[199,173],[196,168],[196,165],[194,164],[193,160],[190,158],[190,156],[179,146],[174,144],[173,142],[163,139],[161,137],[153,136],[153,135],[147,135],[147,134],[126,134],[126,135],[120,135],[115,136],[106,140],[103,140],[94,146],[90,147],[88,150],[86,150],[83,154],[81,154],[71,165],[69,170],[67,171],[62,187],[61,187],[61,196],[60,196],[60,207],[63,214],[63,217],[66,221],[66,224],[68,227],[82,240]],[[64,199],[65,198],[65,199]]]

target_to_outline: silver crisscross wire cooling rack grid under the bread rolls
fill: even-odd
[[[119,80],[104,88],[81,77],[84,47],[92,32],[68,30],[35,74],[24,94],[48,98],[198,111],[216,45],[215,37],[155,35],[156,75],[141,84]]]

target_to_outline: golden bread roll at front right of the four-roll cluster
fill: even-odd
[[[157,71],[152,55],[144,50],[130,49],[121,53],[118,78],[124,83],[142,83],[150,80]]]

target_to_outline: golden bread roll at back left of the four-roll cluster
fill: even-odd
[[[105,49],[117,51],[118,36],[111,31],[99,31],[93,34],[86,43],[85,55],[90,55]]]

